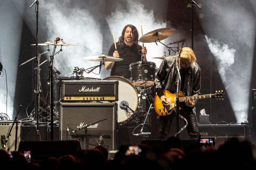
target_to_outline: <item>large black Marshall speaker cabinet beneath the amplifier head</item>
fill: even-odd
[[[102,145],[102,141],[109,150],[117,149],[117,103],[62,103],[59,113],[60,140],[79,140],[82,149],[86,149],[85,130],[75,130],[107,117],[87,128],[87,143],[89,149]],[[70,133],[75,131],[70,136],[67,126]]]

